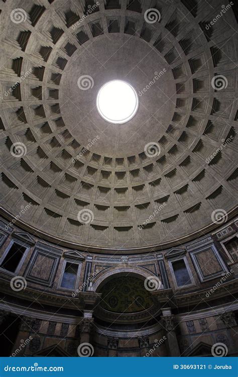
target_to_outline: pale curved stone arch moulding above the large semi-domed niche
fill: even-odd
[[[140,267],[111,267],[97,274],[91,286],[91,292],[98,292],[100,287],[105,284],[111,277],[117,276],[135,276],[141,280],[145,280],[150,276],[156,276],[153,272],[146,271]]]

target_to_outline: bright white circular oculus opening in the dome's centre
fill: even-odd
[[[139,102],[135,89],[128,82],[113,80],[100,88],[96,105],[105,121],[122,124],[134,117]]]

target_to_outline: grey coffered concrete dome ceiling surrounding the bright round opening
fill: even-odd
[[[204,232],[229,214],[235,5],[7,0],[1,10],[1,194],[18,221],[129,248]],[[138,93],[125,124],[96,108],[114,79]]]

